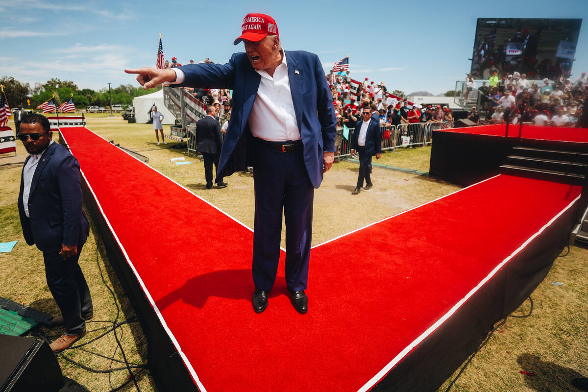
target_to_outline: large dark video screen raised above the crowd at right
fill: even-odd
[[[474,79],[514,72],[554,80],[572,73],[582,19],[478,18],[472,56]]]

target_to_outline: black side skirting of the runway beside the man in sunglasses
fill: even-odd
[[[65,145],[61,133],[59,143]],[[126,261],[125,255],[115,240],[106,220],[102,215],[88,184],[82,176],[83,201],[92,216],[96,230],[100,234],[106,248],[108,260],[116,272],[126,296],[131,301],[133,309],[139,318],[145,339],[148,342],[147,355],[148,366],[151,374],[161,392],[198,391],[195,381],[183,363],[178,351],[173,346],[171,339],[163,328],[155,310],[145,296],[141,284]],[[186,320],[186,322],[190,322]]]

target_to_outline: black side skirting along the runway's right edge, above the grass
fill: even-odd
[[[497,321],[516,310],[569,242],[579,201],[511,259],[372,391],[436,391],[479,347]]]

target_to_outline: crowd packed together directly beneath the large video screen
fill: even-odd
[[[472,75],[467,76],[466,86],[471,78]],[[493,72],[478,89],[483,93],[483,109],[488,112],[486,123],[523,121],[535,125],[575,126],[582,116],[587,86],[586,72],[574,81],[563,75],[554,81],[547,78],[535,81],[519,72],[499,79]],[[468,118],[470,116],[479,123],[476,108],[472,109]]]

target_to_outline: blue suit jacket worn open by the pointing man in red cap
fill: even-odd
[[[303,51],[284,52],[306,171],[312,185],[318,188],[323,179],[323,151],[335,151],[335,108],[319,57]],[[216,182],[245,170],[251,155],[248,158],[251,141],[248,119],[261,76],[245,53],[234,53],[222,65],[188,64],[179,68],[185,73],[185,79],[181,85],[174,86],[233,89],[229,128],[220,151]]]

